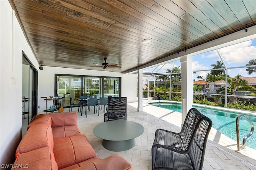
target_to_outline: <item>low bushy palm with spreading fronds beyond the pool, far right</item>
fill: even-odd
[[[233,95],[233,96],[230,96],[229,103],[237,102],[237,99],[234,96],[236,91],[249,91],[249,92],[252,92],[252,93],[256,94],[256,88],[254,86],[251,86],[246,80],[241,79],[241,78],[239,78],[239,79],[228,78],[227,85],[228,85],[228,87],[227,87],[228,94]],[[224,87],[220,87],[217,90],[217,94],[223,94],[224,95],[225,94],[225,90],[226,90],[225,86]],[[214,97],[215,102],[218,103],[218,100],[221,97],[222,96],[215,96]]]

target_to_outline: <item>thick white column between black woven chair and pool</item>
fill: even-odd
[[[182,91],[182,123],[185,121],[186,115],[193,103],[193,72],[192,72],[192,56],[185,55],[180,57],[181,63],[181,91]]]

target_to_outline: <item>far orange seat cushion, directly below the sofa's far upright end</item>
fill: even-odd
[[[52,127],[53,139],[81,135],[77,125]]]

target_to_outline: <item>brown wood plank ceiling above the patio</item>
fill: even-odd
[[[254,0],[10,0],[42,66],[124,72],[256,23]],[[150,43],[143,43],[150,39]]]

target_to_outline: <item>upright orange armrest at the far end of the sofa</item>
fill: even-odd
[[[77,125],[76,111],[50,113],[52,119],[52,127]]]

